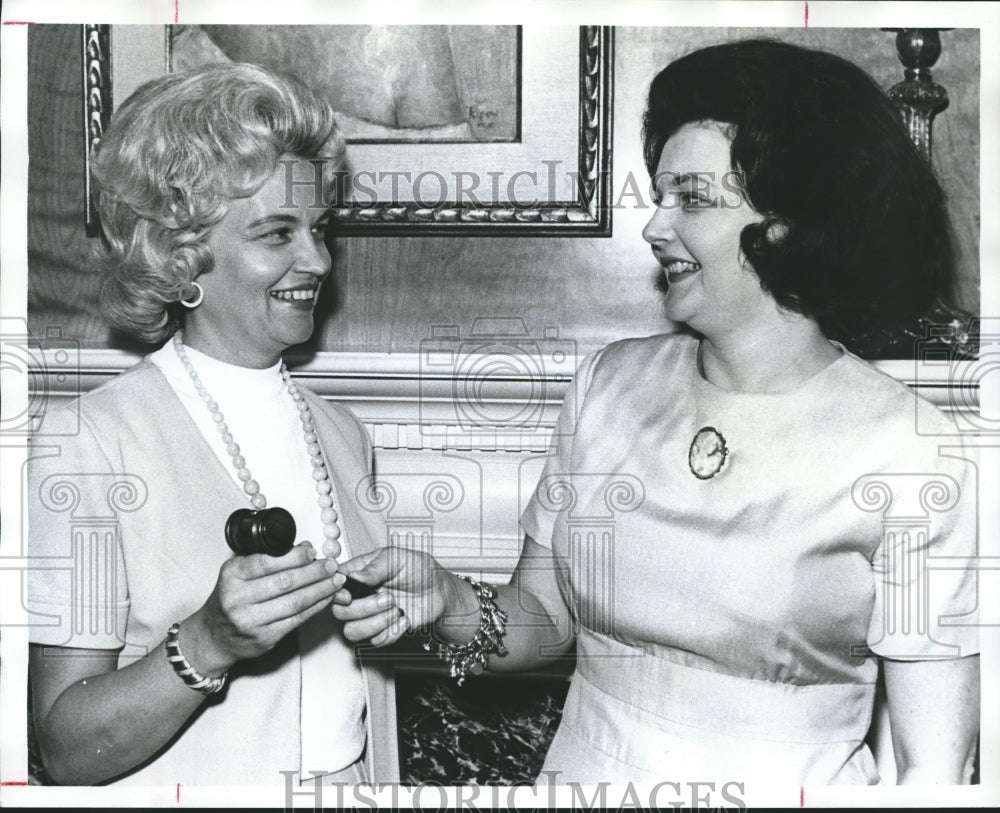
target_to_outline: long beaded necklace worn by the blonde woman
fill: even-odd
[[[267,508],[267,499],[261,493],[260,484],[250,474],[246,458],[240,454],[240,446],[233,439],[229,427],[226,425],[226,419],[222,414],[222,410],[219,409],[218,403],[209,395],[208,390],[205,389],[205,385],[201,383],[201,378],[198,377],[198,373],[194,369],[187,351],[184,349],[184,338],[180,331],[174,334],[174,349],[177,351],[177,357],[181,360],[181,364],[184,365],[184,369],[187,370],[187,374],[191,377],[191,383],[194,384],[195,391],[201,397],[201,400],[205,402],[205,406],[208,407],[208,411],[212,414],[212,422],[215,424],[215,428],[219,430],[222,442],[226,445],[226,451],[229,453],[230,458],[232,458],[233,466],[236,469],[236,476],[243,484],[243,491],[250,499],[250,504],[254,508],[253,511],[249,512],[251,517],[262,514]],[[341,531],[340,525],[337,524],[337,510],[333,507],[333,484],[330,482],[330,474],[327,471],[326,462],[323,460],[323,450],[320,448],[319,436],[316,434],[316,424],[313,422],[309,404],[306,403],[299,388],[292,381],[292,374],[288,372],[288,368],[284,362],[281,363],[281,378],[299,410],[299,420],[302,421],[306,450],[309,453],[309,459],[313,467],[312,476],[316,483],[320,520],[323,522],[323,553],[331,559],[336,559],[341,551],[340,542],[338,541]],[[284,512],[284,509],[281,508],[271,510]],[[230,523],[241,512],[245,513],[246,509],[240,509],[239,512],[234,512],[233,516],[230,517],[230,522],[227,523],[227,536]],[[287,512],[284,513],[287,514]],[[289,514],[288,517],[290,519],[291,515]],[[292,526],[292,538],[294,538],[294,521],[292,522]]]

